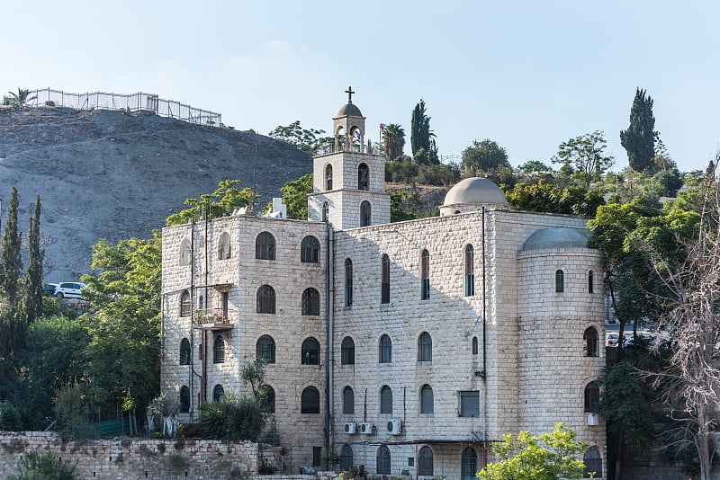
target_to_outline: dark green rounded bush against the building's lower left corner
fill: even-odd
[[[200,405],[198,429],[202,438],[224,441],[257,441],[265,428],[265,415],[254,396],[228,390],[218,402]]]

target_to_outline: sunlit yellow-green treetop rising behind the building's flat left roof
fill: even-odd
[[[238,190],[235,185],[239,182],[239,180],[223,180],[212,193],[203,193],[197,199],[185,200],[184,204],[190,205],[190,208],[170,215],[166,220],[167,226],[182,225],[205,218],[227,217],[235,209],[247,207],[256,199],[256,195],[249,187]]]

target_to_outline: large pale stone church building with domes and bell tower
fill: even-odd
[[[267,360],[264,439],[288,470],[474,478],[505,433],[590,444],[605,363],[599,252],[587,218],[516,211],[487,179],[440,216],[390,223],[384,158],[349,98],[316,156],[308,220],[233,215],[163,230],[162,386],[181,421]],[[282,216],[281,216],[282,217]],[[596,475],[596,478],[602,475]]]

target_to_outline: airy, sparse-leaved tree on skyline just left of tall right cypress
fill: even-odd
[[[590,182],[598,181],[615,164],[612,156],[605,156],[607,144],[599,130],[571,138],[560,144],[553,163],[563,164],[565,172],[578,173],[581,182],[589,187]]]

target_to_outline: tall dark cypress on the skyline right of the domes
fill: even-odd
[[[644,173],[653,166],[654,129],[653,99],[637,88],[630,108],[630,125],[626,130],[620,130],[620,144],[626,149],[628,163],[636,172]]]

